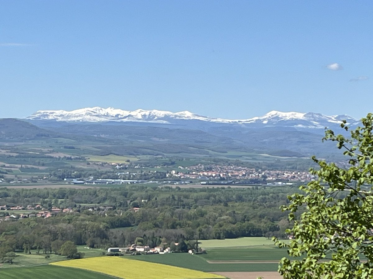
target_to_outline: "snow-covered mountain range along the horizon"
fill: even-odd
[[[220,119],[198,115],[189,111],[169,112],[162,110],[127,111],[114,108],[84,108],[72,111],[65,110],[39,110],[28,120],[54,120],[63,122],[150,122],[159,124],[172,124],[179,120],[197,120],[222,124],[257,124],[264,126],[292,126],[295,128],[325,128],[326,126],[341,123],[343,119],[349,124],[355,124],[356,119],[348,115],[326,116],[321,113],[279,112],[272,110],[266,115],[249,119]]]

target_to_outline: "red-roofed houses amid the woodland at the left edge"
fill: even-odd
[[[12,220],[12,219],[23,219],[23,218],[32,218],[32,217],[41,217],[41,218],[49,218],[53,215],[56,215],[59,212],[72,212],[73,209],[71,208],[65,208],[61,209],[56,206],[52,206],[51,209],[44,208],[40,204],[32,206],[28,205],[25,207],[21,205],[17,206],[8,206],[8,205],[0,205],[0,211],[6,211],[7,214],[3,220]],[[11,212],[9,212],[11,211]],[[22,213],[17,213],[17,211],[23,211]]]

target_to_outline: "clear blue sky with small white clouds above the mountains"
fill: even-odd
[[[373,109],[372,1],[5,1],[0,118]]]

